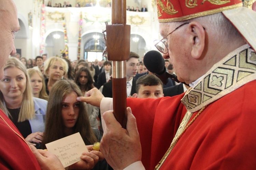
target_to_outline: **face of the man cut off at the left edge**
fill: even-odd
[[[16,5],[13,0],[0,1],[0,14],[0,79],[2,79],[3,69],[9,55],[16,54],[14,33],[17,32],[20,27]]]

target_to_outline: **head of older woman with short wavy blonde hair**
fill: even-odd
[[[61,78],[64,78],[65,74],[68,72],[68,63],[60,57],[51,57],[45,61],[44,64],[44,75],[47,77],[45,79],[45,89],[49,95],[54,83]]]

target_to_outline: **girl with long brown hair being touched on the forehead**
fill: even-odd
[[[89,117],[82,102],[79,87],[70,80],[57,81],[49,95],[46,110],[45,131],[42,148],[45,144],[79,132],[85,145],[93,145],[101,140],[99,130],[91,128]],[[98,162],[94,169],[107,169],[105,160]]]

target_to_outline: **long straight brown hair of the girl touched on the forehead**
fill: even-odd
[[[71,92],[76,92],[77,96],[82,96],[80,88],[70,80],[57,81],[49,94],[46,109],[45,131],[42,140],[42,149],[46,149],[45,144],[66,137],[64,133],[64,123],[61,116],[63,98]],[[97,141],[91,128],[85,104],[80,102],[79,116],[73,127],[74,133],[80,132],[85,145],[92,145]]]

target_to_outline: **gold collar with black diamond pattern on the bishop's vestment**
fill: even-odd
[[[191,113],[256,80],[256,53],[248,44],[229,53],[181,100]]]

